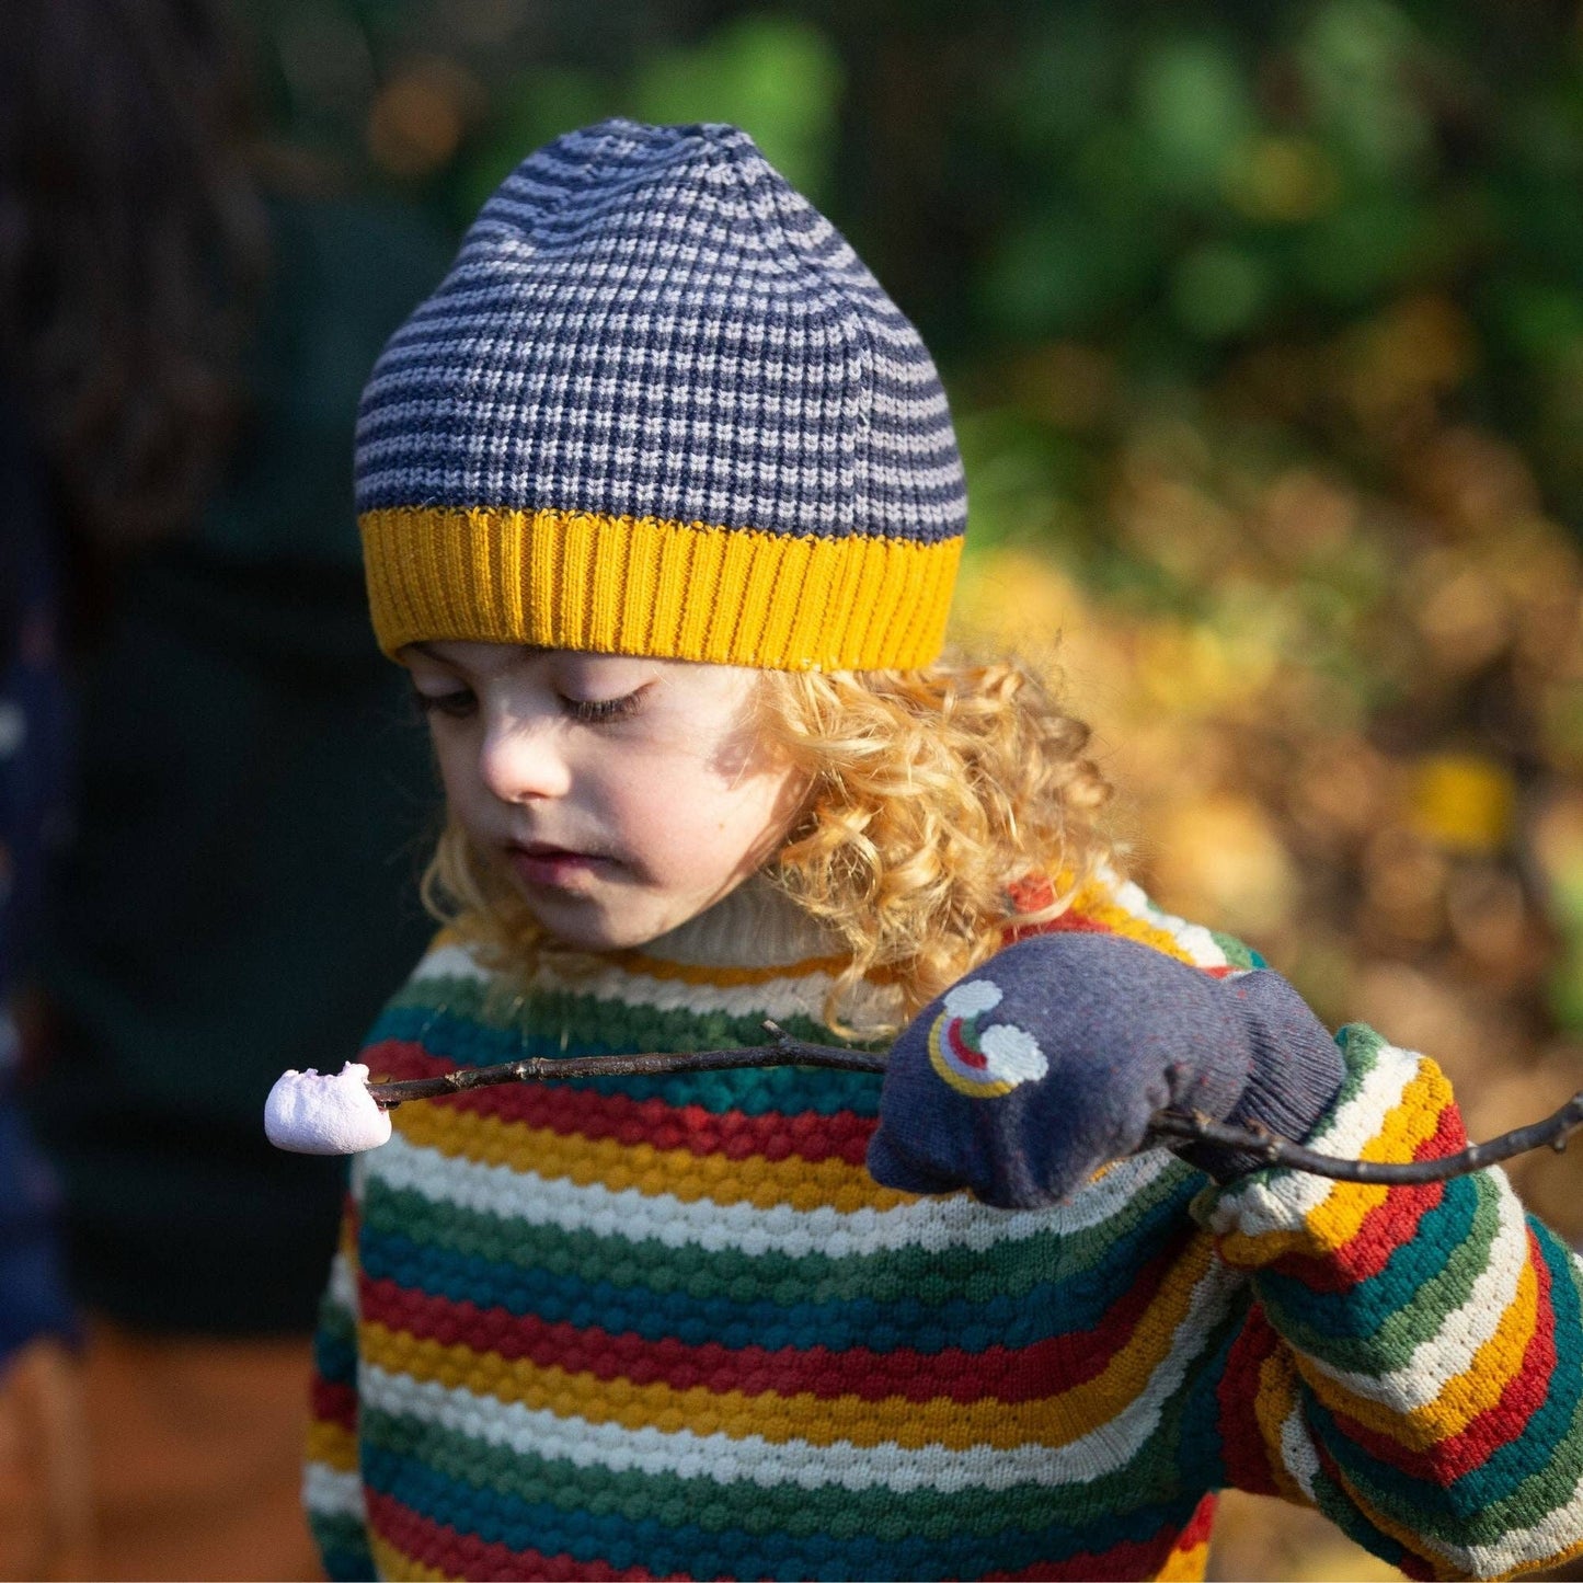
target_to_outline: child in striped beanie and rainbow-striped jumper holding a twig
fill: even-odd
[[[937,660],[934,367],[742,133],[530,157],[375,369],[358,489],[451,920],[361,1059],[901,1037],[883,1089],[396,1111],[318,1344],[332,1575],[1197,1577],[1227,1485],[1414,1575],[1583,1548],[1583,1277],[1498,1173],[1133,1152],[1167,1100],[1463,1133],[1433,1064],[1116,877],[1024,673]]]

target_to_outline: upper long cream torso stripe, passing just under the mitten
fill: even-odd
[[[955,1194],[920,1198],[894,1209],[842,1213],[790,1205],[758,1209],[750,1203],[720,1205],[709,1198],[687,1203],[671,1194],[646,1195],[635,1187],[621,1192],[600,1184],[578,1187],[565,1178],[546,1179],[510,1165],[448,1157],[418,1148],[400,1133],[364,1159],[370,1183],[500,1219],[562,1232],[654,1239],[666,1247],[735,1249],[754,1257],[774,1252],[793,1258],[809,1254],[845,1258],[902,1247],[983,1252],[1029,1236],[1070,1235],[1108,1220],[1175,1165],[1175,1157],[1159,1149],[1122,1160],[1070,1203],[1053,1209],[991,1209],[966,1194]]]

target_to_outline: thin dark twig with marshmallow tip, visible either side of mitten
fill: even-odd
[[[564,1078],[630,1078],[670,1076],[682,1072],[738,1072],[749,1067],[829,1067],[839,1072],[885,1070],[886,1056],[882,1051],[842,1050],[839,1045],[809,1045],[793,1038],[774,1023],[765,1023],[771,1034],[768,1045],[749,1045],[739,1050],[700,1050],[685,1053],[641,1056],[570,1056],[562,1059],[530,1056],[522,1061],[505,1061],[494,1067],[467,1067],[446,1072],[437,1078],[410,1078],[399,1083],[372,1083],[369,1092],[383,1110],[405,1105],[415,1099],[440,1099],[446,1094],[464,1094],[475,1088],[491,1088],[497,1083],[549,1083]],[[1433,1160],[1409,1160],[1382,1164],[1379,1160],[1350,1160],[1336,1154],[1320,1154],[1290,1138],[1273,1132],[1228,1127],[1200,1113],[1162,1110],[1149,1122],[1145,1148],[1183,1149],[1194,1143],[1216,1143],[1254,1156],[1260,1165],[1285,1165],[1290,1170],[1308,1171],[1312,1176],[1330,1176],[1336,1181],[1404,1186],[1414,1183],[1439,1183],[1453,1176],[1466,1176],[1509,1160],[1529,1149],[1551,1148],[1556,1152],[1567,1146],[1567,1138],[1583,1127],[1583,1091],[1572,1095],[1553,1116],[1502,1132],[1488,1143],[1474,1143],[1460,1154],[1444,1154]]]

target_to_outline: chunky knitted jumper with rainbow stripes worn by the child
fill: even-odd
[[[1119,882],[1057,928],[1251,966]],[[526,996],[442,936],[361,1059],[829,1042],[837,967],[754,886]],[[1429,1061],[1341,1040],[1311,1141],[1463,1146]],[[777,1069],[397,1110],[318,1336],[331,1575],[1187,1578],[1224,1486],[1412,1577],[1583,1551],[1583,1271],[1498,1171],[1216,1189],[1151,1152],[1016,1214],[877,1187],[877,1099]]]

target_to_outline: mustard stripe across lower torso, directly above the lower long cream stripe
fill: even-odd
[[[438,1380],[499,1401],[521,1403],[532,1410],[619,1423],[627,1429],[657,1428],[666,1433],[761,1434],[766,1441],[807,1441],[831,1445],[882,1445],[896,1441],[910,1450],[943,1445],[967,1450],[991,1445],[1010,1450],[1024,1442],[1067,1445],[1111,1420],[1148,1385],[1149,1376],[1170,1352],[1176,1328],[1203,1276],[1213,1244],[1208,1236],[1192,1247],[1162,1282],[1154,1301],[1138,1320],[1127,1344],[1105,1369],[1059,1395],[1038,1401],[980,1399],[956,1403],[937,1396],[924,1403],[904,1396],[866,1401],[860,1396],[815,1396],[799,1391],[712,1391],[695,1385],[679,1390],[665,1384],[635,1385],[627,1379],[598,1379],[590,1372],[540,1368],[532,1360],[502,1358],[462,1344],[446,1346],[386,1325],[359,1328],[361,1355],[372,1365],[416,1380]]]

